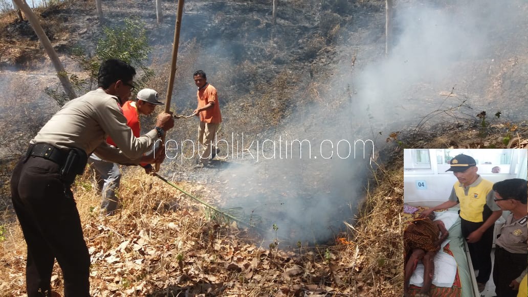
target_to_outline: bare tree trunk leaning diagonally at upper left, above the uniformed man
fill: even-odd
[[[70,100],[76,98],[77,95],[73,91],[73,87],[70,83],[70,80],[68,80],[68,73],[64,70],[62,63],[59,60],[59,56],[51,45],[50,39],[48,38],[48,36],[46,36],[46,33],[44,33],[44,30],[42,29],[42,26],[39,23],[39,19],[36,17],[36,15],[33,13],[31,8],[27,5],[27,3],[25,3],[24,0],[13,1],[16,2],[16,5],[18,5],[20,9],[22,9],[22,11],[27,17],[27,20],[33,27],[33,30],[35,31],[36,35],[39,37],[40,42],[44,46],[44,50],[46,51],[46,53],[48,53],[48,56],[50,56],[51,62],[53,63],[53,66],[57,71],[57,76],[61,81],[64,91],[66,92]]]

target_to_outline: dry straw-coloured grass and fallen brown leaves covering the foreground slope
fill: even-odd
[[[91,294],[398,295],[401,241],[393,218],[401,210],[402,176],[378,172],[378,187],[371,189],[357,224],[348,224],[350,232],[333,246],[298,244],[289,251],[254,244],[258,236],[251,230],[211,216],[203,205],[138,169],[124,175],[121,211],[101,217],[100,196],[92,176],[85,174],[76,181],[74,194],[92,258]],[[178,186],[205,200],[218,195],[203,185]],[[25,292],[25,242],[17,222],[4,226],[0,295],[20,296]],[[52,280],[53,290],[61,292],[58,265]]]

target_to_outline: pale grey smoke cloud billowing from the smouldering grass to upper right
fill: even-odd
[[[259,161],[248,155],[244,159],[228,155],[230,166],[214,170],[208,176],[220,183],[221,206],[237,208],[238,212],[242,209],[243,214],[238,215],[244,221],[268,231],[266,243],[275,239],[279,246],[325,242],[340,235],[343,221],[353,221],[357,206],[365,197],[370,170],[375,168],[376,162],[381,162],[377,158],[391,132],[416,126],[432,111],[457,106],[459,108],[454,110],[457,117],[474,118],[481,110],[489,114],[501,110],[503,116],[510,119],[525,116],[515,107],[526,103],[525,80],[512,80],[515,75],[505,73],[516,73],[519,67],[526,69],[525,61],[514,64],[512,59],[525,54],[528,48],[527,6],[523,1],[491,0],[441,4],[397,2],[393,43],[387,56],[384,55],[383,11],[361,11],[357,6],[357,11],[352,13],[357,23],[353,20],[352,25],[342,26],[338,35],[341,39],[337,39],[340,42],[335,47],[334,63],[327,65],[322,60],[310,59],[313,69],[319,72],[298,72],[295,66],[291,70],[297,87],[301,84],[308,89],[312,83],[318,85],[321,101],[294,106],[294,112],[275,129],[262,131],[259,136],[250,135],[250,140],[259,140],[261,144],[266,139],[277,141],[279,137],[285,141],[307,142],[301,147],[290,148],[290,152],[294,152],[291,158],[280,158],[272,142],[266,142],[260,151],[254,145],[249,149],[253,156],[263,154]],[[222,19],[219,23],[229,17],[224,13],[215,16]],[[300,36],[298,31],[292,35],[276,33],[271,36],[265,24],[242,22],[238,25],[240,30],[230,36],[229,42],[208,40],[195,65],[196,69],[208,73],[209,81],[221,94],[235,94],[237,88],[256,91],[254,81],[241,75],[247,73],[232,73],[231,84],[215,83],[214,73],[226,71],[225,64],[280,58],[293,65],[295,59],[287,54],[280,55],[281,50],[292,44],[297,44],[299,51],[301,47],[309,50],[306,46],[310,40]],[[279,22],[281,25],[287,24]],[[213,26],[206,27],[205,31],[211,37],[220,33],[214,33]],[[250,45],[245,49],[241,47],[244,43],[255,46],[259,39],[262,49],[249,51]],[[275,40],[268,42],[270,39]],[[213,60],[217,63],[210,63]],[[225,63],[218,62],[220,60]],[[287,65],[271,71],[257,69],[255,75],[269,80]],[[241,85],[237,79],[246,79],[246,84]],[[284,93],[287,94],[286,90]],[[258,94],[256,91],[256,96]],[[190,91],[188,98],[194,101],[194,93]],[[290,100],[295,104],[300,98]],[[515,104],[511,104],[511,100]],[[428,123],[446,120],[456,119],[444,116]],[[244,127],[227,126],[225,129],[229,132],[228,136],[224,135],[228,140],[231,132],[235,135],[244,132]],[[366,143],[370,140],[374,145],[355,147],[359,140]],[[350,146],[346,146],[345,141]],[[304,155],[310,149],[308,142],[311,158]],[[247,149],[249,143],[240,150]],[[220,148],[220,156],[226,156],[228,148]],[[302,157],[299,156],[300,148]],[[332,158],[326,158],[331,152]],[[274,157],[266,159],[263,156]]]

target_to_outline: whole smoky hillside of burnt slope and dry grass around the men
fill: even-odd
[[[166,100],[174,2],[162,1],[159,24],[153,1],[102,1],[104,20],[92,1],[52,3],[34,12],[78,95],[96,87],[79,56],[130,19],[151,47],[146,86]],[[163,178],[122,166],[110,217],[93,169],[78,177],[91,294],[401,296],[402,150],[526,148],[528,5],[392,9],[386,45],[382,1],[279,0],[275,19],[271,0],[185,2],[171,110],[192,113],[192,74],[204,70],[219,91],[221,151],[197,167],[197,119],[177,119]],[[9,179],[62,87],[14,11],[0,17],[0,88],[0,295],[23,296]],[[62,295],[58,265],[52,286]]]

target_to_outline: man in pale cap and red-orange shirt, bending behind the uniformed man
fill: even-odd
[[[121,107],[123,115],[127,119],[127,126],[132,129],[135,137],[139,137],[141,126],[139,114],[148,115],[154,111],[157,105],[163,105],[158,101],[158,92],[153,89],[143,89],[137,93],[137,101],[126,101]],[[110,137],[107,138],[109,145],[116,146]],[[101,211],[107,215],[112,215],[119,206],[119,199],[116,197],[116,189],[119,188],[121,171],[117,163],[102,160],[97,155],[92,154],[88,163],[96,169],[96,179],[102,194]],[[150,173],[153,168],[150,164],[139,164],[145,168],[145,173]]]

